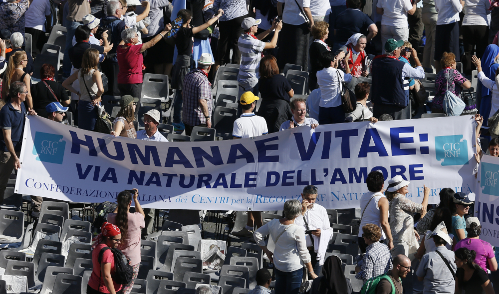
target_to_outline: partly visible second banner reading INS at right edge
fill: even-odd
[[[499,157],[484,155],[477,176],[475,216],[480,219],[480,239],[499,246]]]

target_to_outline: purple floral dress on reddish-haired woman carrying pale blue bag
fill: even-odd
[[[435,79],[435,98],[433,99],[432,108],[442,110],[442,103],[444,102],[445,92],[447,91],[447,78],[449,75],[449,91],[454,95],[460,97],[461,84],[466,82],[466,78],[453,68],[442,69]]]

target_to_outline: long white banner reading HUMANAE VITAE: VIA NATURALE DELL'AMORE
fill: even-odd
[[[74,202],[112,201],[138,188],[146,208],[281,210],[316,185],[326,208],[359,207],[381,170],[430,203],[440,189],[474,192],[472,116],[299,127],[265,136],[159,143],[114,138],[40,117],[26,120],[15,191]],[[385,187],[387,184],[385,184]]]

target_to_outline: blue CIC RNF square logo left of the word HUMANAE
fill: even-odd
[[[62,135],[36,132],[34,135],[33,154],[38,155],[36,160],[62,164],[66,141]]]

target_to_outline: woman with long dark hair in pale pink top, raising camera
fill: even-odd
[[[107,221],[116,225],[121,231],[121,243],[118,249],[123,252],[126,258],[130,259],[130,265],[133,267],[132,281],[128,285],[123,285],[122,294],[130,294],[133,284],[139,273],[140,265],[140,229],[145,227],[144,211],[140,206],[138,196],[139,190],[133,189],[132,194],[129,190],[122,191],[116,197],[118,206],[113,213],[107,217]],[[135,204],[135,213],[130,213],[132,198]]]

